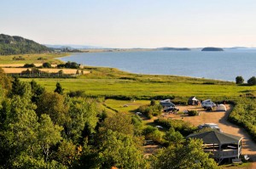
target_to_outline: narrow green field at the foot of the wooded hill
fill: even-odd
[[[44,62],[49,62],[51,64],[60,64],[61,60],[56,58],[68,56],[68,53],[61,54],[17,54],[17,55],[7,55],[0,57],[0,65],[5,64],[42,64]],[[14,60],[14,57],[22,56],[24,60]],[[38,60],[38,58],[44,58],[45,60]]]

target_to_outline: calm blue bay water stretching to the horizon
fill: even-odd
[[[256,76],[256,50],[230,49],[224,52],[148,51],[73,54],[61,58],[82,65],[119,68],[133,73],[205,77],[245,81]]]

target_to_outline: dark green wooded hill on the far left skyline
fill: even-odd
[[[0,55],[37,54],[50,50],[50,48],[24,37],[0,34]]]

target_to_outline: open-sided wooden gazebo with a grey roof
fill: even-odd
[[[187,138],[201,138],[205,152],[211,153],[210,157],[218,161],[224,159],[239,159],[241,155],[241,137],[224,132],[210,131],[194,133]]]

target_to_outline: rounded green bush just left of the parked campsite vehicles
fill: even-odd
[[[146,115],[150,119],[153,116],[160,115],[161,110],[162,110],[162,106],[160,104],[142,105],[137,109],[137,111],[143,113],[143,115]]]

